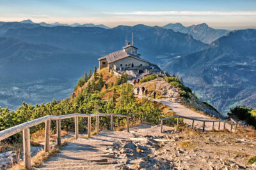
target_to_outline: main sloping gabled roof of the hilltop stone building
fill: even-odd
[[[133,57],[138,60],[142,60],[144,62],[148,62],[147,60],[141,59],[138,55],[135,55],[133,53],[125,52],[124,50],[120,50],[117,52],[109,53],[108,55],[104,57],[100,57],[98,60],[106,59],[108,63],[115,62],[116,60],[124,59],[126,57]],[[150,63],[150,62],[148,62]]]

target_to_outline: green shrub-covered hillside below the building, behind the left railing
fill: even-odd
[[[89,75],[89,74],[88,74]],[[44,117],[46,115],[67,115],[71,113],[120,113],[132,115],[132,122],[151,122],[156,124],[159,118],[163,117],[161,113],[166,112],[163,104],[157,104],[147,99],[136,99],[133,93],[133,86],[126,83],[127,76],[123,75],[117,78],[113,73],[108,73],[108,69],[95,71],[92,76],[84,76],[83,84],[78,82],[75,96],[70,96],[61,101],[52,100],[51,103],[26,104],[23,103],[16,111],[10,111],[8,108],[0,108],[0,131],[13,127],[29,120]],[[77,91],[79,90],[79,91]],[[169,110],[170,108],[167,108]],[[125,118],[115,118],[115,122],[125,125]],[[79,119],[79,127],[84,131],[83,118]],[[100,126],[108,127],[109,118],[100,117]],[[55,122],[52,122],[55,124]],[[74,121],[61,120],[61,126],[70,130],[74,128]],[[52,127],[56,127],[52,125]],[[44,128],[44,125],[31,127],[31,132]],[[18,134],[17,136],[19,136]],[[17,136],[13,136],[16,140]]]

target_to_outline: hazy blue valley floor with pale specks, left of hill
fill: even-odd
[[[0,106],[17,110],[23,102],[35,105],[49,103],[52,99],[61,101],[70,97],[76,83],[77,78],[51,78],[0,85]]]

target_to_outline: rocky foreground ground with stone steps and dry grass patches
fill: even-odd
[[[255,137],[141,124],[68,143],[39,169],[253,169]],[[161,141],[162,140],[162,141]],[[232,144],[232,145],[231,145]]]

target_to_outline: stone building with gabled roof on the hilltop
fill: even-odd
[[[147,60],[141,59],[137,52],[138,48],[128,43],[122,50],[109,53],[108,55],[99,58],[99,68],[108,67],[111,70],[145,70],[157,67]]]

